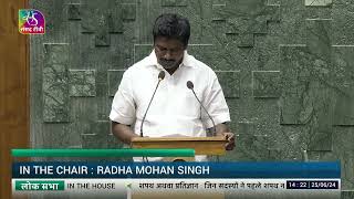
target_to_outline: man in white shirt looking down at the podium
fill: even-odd
[[[190,25],[187,19],[165,13],[154,25],[154,50],[147,57],[135,63],[123,75],[116,92],[110,118],[112,132],[123,143],[131,144],[139,136],[144,114],[158,82],[165,72],[144,122],[144,136],[205,137],[212,122],[188,90],[194,90],[216,124],[217,135],[228,139],[226,149],[235,147],[235,137],[225,124],[230,121],[221,86],[216,73],[187,53]],[[134,129],[131,128],[134,125]],[[205,160],[205,157],[196,157]]]

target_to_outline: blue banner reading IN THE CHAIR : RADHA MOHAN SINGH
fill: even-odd
[[[341,164],[27,161],[12,178],[341,178]]]

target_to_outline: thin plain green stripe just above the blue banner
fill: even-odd
[[[13,157],[194,157],[190,148],[132,148],[132,149],[12,149]]]

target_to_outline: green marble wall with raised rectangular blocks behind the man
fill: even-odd
[[[341,160],[354,195],[352,0],[30,0],[46,19],[31,36],[35,148],[121,148],[112,97],[152,49],[163,12],[191,22],[188,51],[218,74],[237,148],[223,160]]]

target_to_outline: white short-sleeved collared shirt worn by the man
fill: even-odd
[[[154,51],[128,67],[113,98],[111,121],[134,125],[134,133],[139,135],[140,123],[160,71],[165,69],[157,63]],[[144,136],[206,137],[206,128],[212,127],[212,122],[187,87],[187,81],[194,83],[197,96],[216,125],[230,121],[229,108],[216,73],[185,51],[183,62],[175,73],[170,75],[165,71],[165,78],[156,91],[144,122]]]

